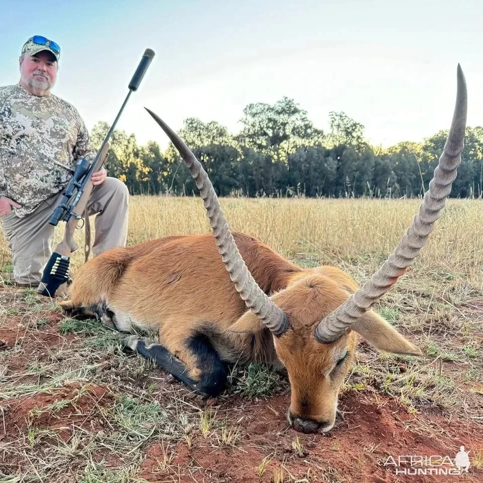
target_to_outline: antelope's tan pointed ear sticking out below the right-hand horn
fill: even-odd
[[[401,336],[386,320],[373,310],[368,310],[351,327],[371,346],[392,354],[422,356],[421,350]]]

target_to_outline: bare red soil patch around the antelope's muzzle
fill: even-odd
[[[147,450],[140,476],[147,481],[398,481],[389,457],[449,456],[459,446],[483,448],[481,426],[448,422],[442,416],[411,415],[388,397],[348,394],[341,398],[338,426],[328,435],[300,434],[287,428],[283,415],[288,396],[274,397],[245,410],[245,437],[226,447],[219,438],[197,434],[190,443],[154,444]],[[223,409],[227,409],[225,405]],[[236,409],[234,405],[231,409]],[[282,416],[282,417],[281,417]],[[268,456],[268,458],[267,458]],[[480,481],[483,472],[472,468]],[[403,475],[414,483],[438,482],[441,475]],[[163,479],[165,478],[165,479]],[[169,479],[171,478],[171,479]],[[290,479],[292,478],[292,479]],[[305,479],[304,479],[305,478]]]

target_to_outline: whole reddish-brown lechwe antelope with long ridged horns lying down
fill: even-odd
[[[209,233],[168,236],[110,250],[78,270],[64,310],[97,315],[120,331],[156,330],[159,343],[131,335],[125,345],[201,394],[223,389],[226,363],[285,367],[291,386],[289,422],[297,431],[329,431],[353,362],[356,333],[379,350],[421,355],[371,307],[418,255],[451,191],[466,123],[459,65],[457,85],[451,129],[419,213],[395,251],[359,289],[336,267],[301,269],[261,241],[232,234],[201,164],[148,110],[196,180],[214,238]]]

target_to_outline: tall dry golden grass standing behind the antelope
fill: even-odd
[[[221,199],[230,227],[265,241],[282,255],[312,263],[335,263],[359,279],[370,275],[400,240],[417,213],[420,200],[370,199]],[[478,200],[448,200],[430,241],[416,261],[416,270],[434,279],[483,284],[483,206]],[[94,217],[93,217],[94,219]],[[62,235],[56,228],[55,243]],[[128,243],[177,233],[206,233],[209,223],[197,197],[133,196]],[[84,230],[76,240],[83,243]],[[5,238],[0,237],[0,264],[9,263]],[[82,250],[73,267],[83,263]],[[426,282],[426,281],[425,281]],[[461,290],[464,290],[461,287]]]

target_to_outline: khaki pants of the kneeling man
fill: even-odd
[[[55,227],[49,224],[55,206],[62,193],[42,202],[33,213],[22,218],[10,214],[0,216],[2,229],[12,250],[14,280],[22,285],[37,286],[42,272],[52,254]],[[95,186],[87,204],[89,215],[95,218],[93,256],[111,248],[125,247],[129,192],[124,183],[116,178],[106,178]],[[65,225],[60,222],[59,225]]]

